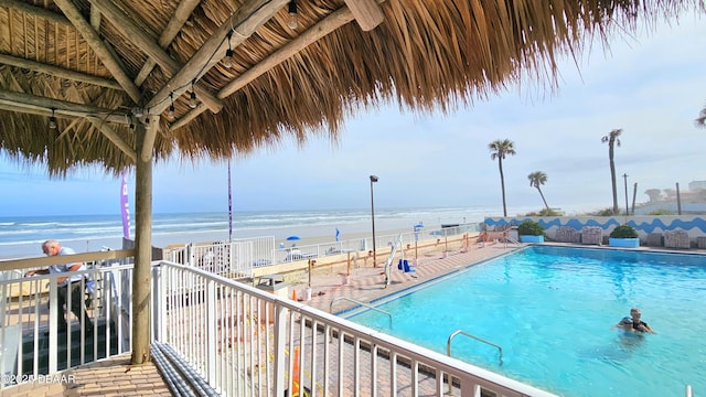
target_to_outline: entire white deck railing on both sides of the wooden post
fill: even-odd
[[[58,275],[0,281],[3,379],[55,374],[129,348],[132,265],[81,273],[97,283],[85,303],[93,337],[72,315],[76,331],[57,332],[57,308],[47,303],[56,301]],[[302,396],[304,388],[311,396],[550,396],[193,266],[161,261],[152,276],[153,340],[223,396]]]

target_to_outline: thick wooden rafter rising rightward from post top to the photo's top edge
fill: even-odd
[[[238,46],[276,13],[280,12],[288,2],[289,0],[247,0],[218,26],[184,67],[154,95],[147,107],[156,109],[160,114],[164,111],[171,105],[167,100],[170,93],[182,95],[191,89],[190,82],[199,81],[211,67],[221,62],[221,57],[214,56],[214,54],[225,54],[228,47],[226,36],[232,29],[235,34],[231,39],[231,45]]]

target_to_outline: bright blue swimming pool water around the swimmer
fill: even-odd
[[[407,291],[350,320],[566,396],[706,391],[706,257],[537,246]],[[656,335],[611,325],[642,309]]]

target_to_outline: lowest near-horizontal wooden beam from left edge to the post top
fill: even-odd
[[[26,109],[28,114],[51,116],[52,109],[56,115],[71,117],[96,117],[104,122],[128,125],[124,115],[115,114],[113,109],[69,103],[65,100],[40,97],[31,94],[15,93],[0,89],[0,104]]]

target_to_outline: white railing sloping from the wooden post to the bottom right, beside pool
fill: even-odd
[[[157,339],[223,396],[553,396],[193,267],[162,261],[154,286]]]

